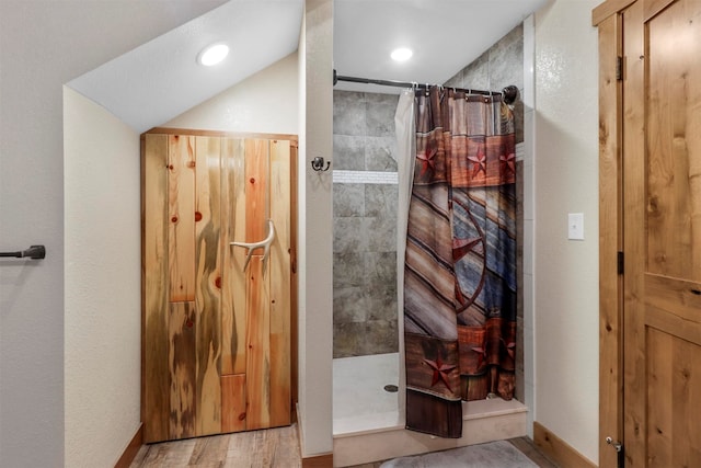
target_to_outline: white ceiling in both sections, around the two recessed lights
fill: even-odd
[[[334,68],[440,83],[547,1],[335,0]],[[230,0],[68,84],[145,132],[295,52],[302,14],[302,0]],[[231,47],[227,60],[199,66],[198,53],[219,42]],[[398,46],[413,48],[412,60],[392,62]]]

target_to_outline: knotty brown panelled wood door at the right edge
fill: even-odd
[[[622,18],[625,466],[700,467],[701,2]]]

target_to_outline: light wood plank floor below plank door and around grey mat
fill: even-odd
[[[541,468],[558,468],[527,437],[509,441]],[[382,463],[352,468],[379,468]],[[130,468],[300,468],[297,425],[145,445]]]

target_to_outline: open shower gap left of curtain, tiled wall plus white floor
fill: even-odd
[[[399,424],[398,100],[334,91],[334,434]]]

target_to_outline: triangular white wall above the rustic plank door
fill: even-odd
[[[290,54],[162,126],[297,135],[297,61]]]

